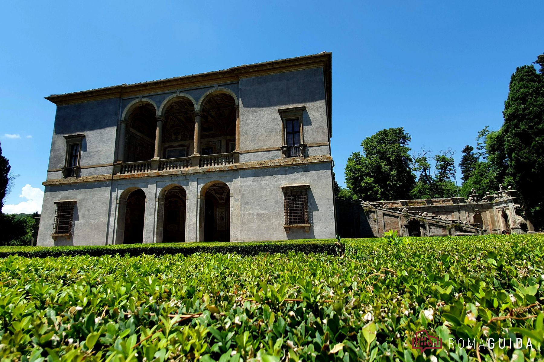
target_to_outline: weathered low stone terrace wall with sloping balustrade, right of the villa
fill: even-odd
[[[342,237],[381,237],[397,230],[403,236],[466,236],[534,232],[516,190],[479,197],[347,202],[337,200]]]

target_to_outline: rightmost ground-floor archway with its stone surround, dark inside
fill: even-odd
[[[202,189],[200,202],[200,241],[230,241],[230,188],[224,182],[214,182]]]

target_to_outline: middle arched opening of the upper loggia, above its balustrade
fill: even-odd
[[[194,153],[195,106],[187,97],[171,101],[164,112],[162,158],[188,157]]]

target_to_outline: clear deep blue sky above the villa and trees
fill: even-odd
[[[503,122],[517,66],[544,52],[540,1],[7,2],[0,142],[14,188],[3,211],[41,209],[49,94],[332,52],[332,157],[404,127],[410,147],[452,148]],[[112,156],[113,157],[113,156]],[[458,173],[458,179],[460,175]]]

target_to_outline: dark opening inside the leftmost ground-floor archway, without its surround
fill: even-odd
[[[124,200],[122,200],[124,201]],[[141,188],[132,191],[124,205],[125,219],[122,243],[141,244],[144,242],[145,193]],[[121,207],[120,212],[121,214]]]

